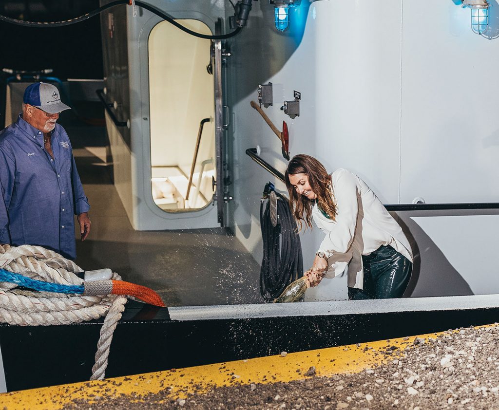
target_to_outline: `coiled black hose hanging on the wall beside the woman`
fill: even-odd
[[[303,274],[300,237],[296,222],[285,197],[277,196],[279,223],[270,222],[270,205],[265,210],[260,205],[260,226],[263,239],[263,259],[260,269],[260,294],[270,302],[278,297],[284,288]],[[281,246],[282,245],[282,246]],[[279,249],[281,247],[281,249]]]

